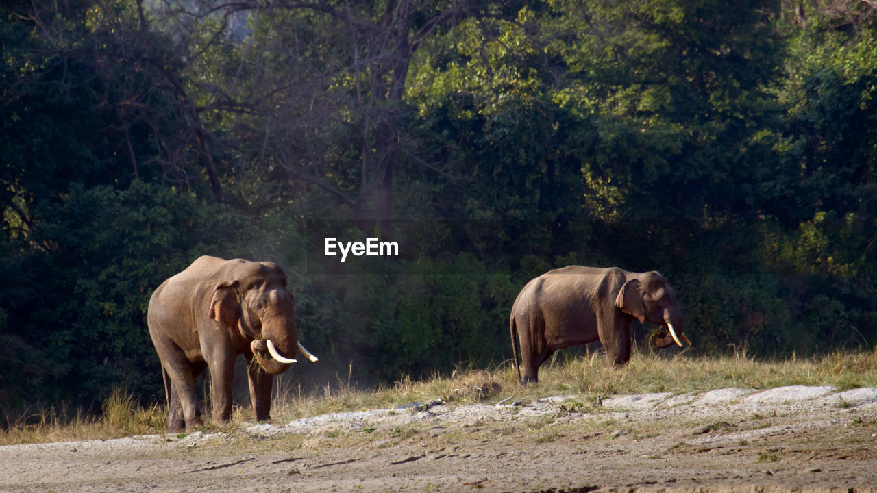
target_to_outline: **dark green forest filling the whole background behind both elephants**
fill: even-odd
[[[570,264],[659,270],[691,354],[877,344],[870,0],[15,0],[0,51],[5,418],[163,400],[203,254],[286,269],[287,387],[503,364]]]

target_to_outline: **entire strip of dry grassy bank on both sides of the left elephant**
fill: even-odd
[[[785,385],[831,385],[838,389],[877,387],[877,349],[872,352],[832,353],[822,357],[756,361],[743,354],[721,357],[667,357],[651,352],[634,354],[624,368],[606,368],[601,354],[570,357],[546,363],[538,385],[524,389],[517,384],[517,372],[506,364],[499,368],[458,368],[452,375],[436,375],[415,382],[402,375],[394,385],[358,389],[353,379],[339,377],[318,391],[281,388],[272,415],[278,424],[291,419],[326,412],[361,411],[400,404],[424,403],[441,398],[452,404],[496,402],[565,394],[580,395],[596,402],[612,394],[643,392],[686,393],[741,387],[769,389]],[[140,406],[124,389],[117,389],[104,401],[96,416],[77,412],[68,418],[52,408],[25,413],[0,431],[0,445],[78,439],[109,439],[133,434],[164,432],[164,405]],[[231,425],[207,430],[232,429],[252,419],[248,408],[234,411]]]

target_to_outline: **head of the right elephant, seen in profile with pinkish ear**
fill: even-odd
[[[682,333],[684,324],[676,294],[663,275],[647,272],[625,282],[618,291],[615,305],[640,322],[667,327],[666,331],[662,330],[652,337],[652,344],[656,347],[670,347],[674,343],[679,347],[683,347],[683,343],[691,345]]]

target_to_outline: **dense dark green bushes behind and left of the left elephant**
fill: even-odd
[[[158,394],[145,325],[152,290],[201,254],[246,252],[246,218],[139,181],[125,190],[72,184],[59,199],[34,208],[39,224],[4,257],[3,337],[14,353],[4,375],[19,377],[0,391],[89,402],[128,383]]]

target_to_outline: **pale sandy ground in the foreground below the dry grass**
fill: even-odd
[[[422,404],[0,447],[0,490],[877,493],[877,389]]]

